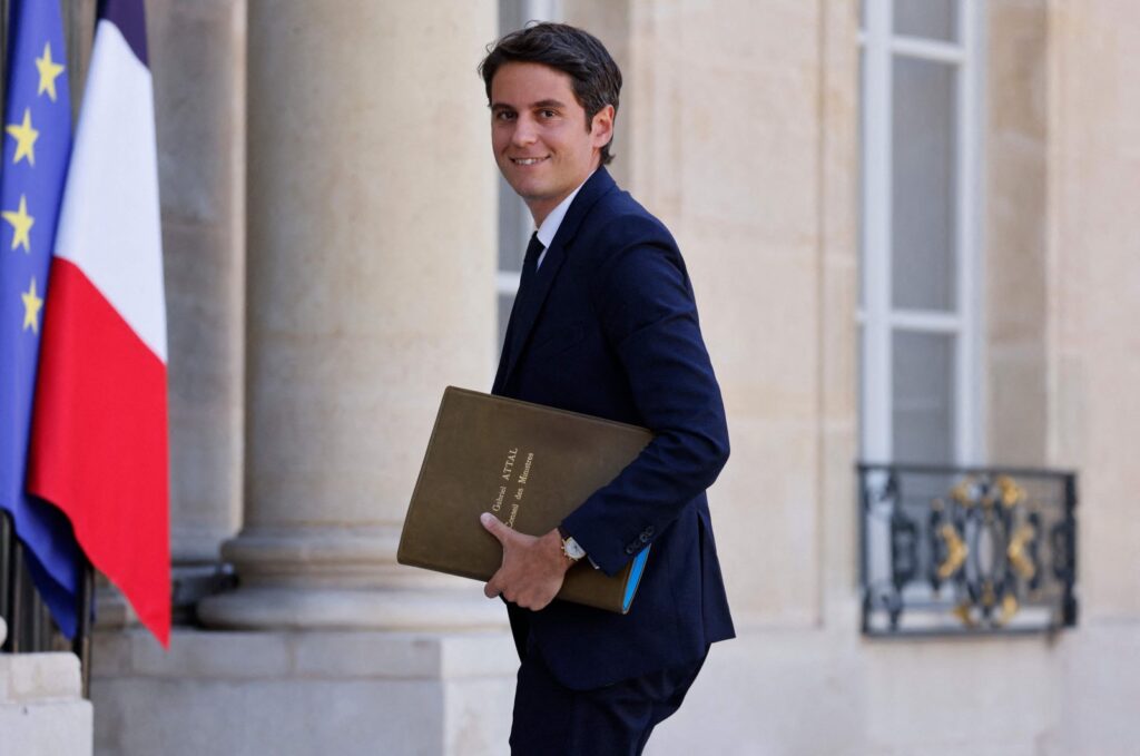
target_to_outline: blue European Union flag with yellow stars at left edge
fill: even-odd
[[[75,635],[80,551],[71,522],[24,490],[43,301],[71,154],[71,97],[59,3],[14,0],[9,11],[0,169],[0,506],[59,628]]]

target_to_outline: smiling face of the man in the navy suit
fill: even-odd
[[[491,80],[495,161],[536,225],[597,168],[612,133],[613,107],[596,113],[587,130],[586,111],[561,71],[507,63]]]

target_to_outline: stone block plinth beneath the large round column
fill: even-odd
[[[99,753],[164,756],[500,753],[518,669],[506,631],[127,629],[92,660]]]

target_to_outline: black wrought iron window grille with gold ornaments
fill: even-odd
[[[1076,625],[1076,474],[860,464],[866,635]]]

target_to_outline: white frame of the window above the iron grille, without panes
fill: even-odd
[[[864,0],[862,284],[857,311],[862,331],[862,457],[889,462],[893,439],[893,335],[942,333],[955,336],[953,464],[979,464],[985,457],[982,390],[982,197],[980,165],[984,108],[982,72],[984,24],[978,0],[958,5],[958,42],[893,34],[894,0]],[[891,306],[891,92],[895,56],[956,66],[955,257],[956,302],[953,311]]]

